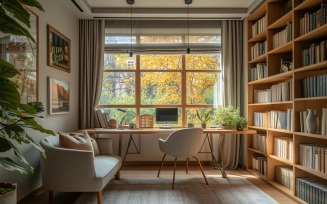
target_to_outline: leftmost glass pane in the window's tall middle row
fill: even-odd
[[[135,73],[104,72],[99,104],[135,104]]]

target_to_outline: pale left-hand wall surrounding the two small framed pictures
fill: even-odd
[[[70,82],[70,113],[65,115],[48,115],[44,113],[45,121],[40,124],[54,132],[74,131],[78,128],[78,18],[72,14],[72,3],[67,0],[40,0],[45,12],[32,9],[39,16],[39,101],[48,107],[47,77],[57,77]],[[71,73],[47,66],[47,24],[51,25],[71,40]],[[46,109],[47,110],[47,109]],[[30,135],[40,141],[45,135],[30,132]],[[31,193],[41,186],[40,154],[31,145],[19,146],[26,159],[35,168],[34,174],[22,175],[0,168],[0,181],[18,183],[18,199]],[[1,156],[17,159],[8,152]]]

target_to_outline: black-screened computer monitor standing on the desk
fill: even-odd
[[[178,123],[178,108],[156,108],[156,123],[164,124],[161,128],[170,128],[169,124]]]

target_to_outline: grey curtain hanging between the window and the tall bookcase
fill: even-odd
[[[224,80],[224,107],[233,105],[243,113],[244,62],[243,62],[243,21],[222,22],[222,62]],[[237,168],[240,159],[240,135],[225,135],[225,167]],[[220,156],[220,155],[219,155]]]

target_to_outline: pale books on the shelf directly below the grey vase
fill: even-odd
[[[327,146],[300,144],[300,164],[310,169],[327,173]]]

